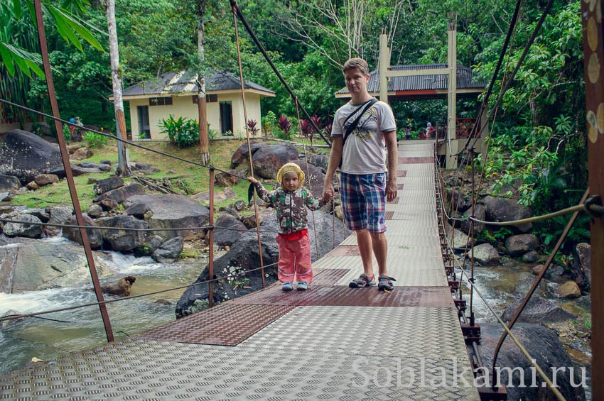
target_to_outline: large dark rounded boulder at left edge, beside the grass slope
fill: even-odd
[[[31,132],[14,129],[0,138],[0,174],[14,175],[25,183],[61,163],[58,146]]]

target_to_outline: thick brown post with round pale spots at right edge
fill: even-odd
[[[604,0],[581,1],[590,195],[604,196]],[[591,216],[593,400],[604,400],[604,217]]]

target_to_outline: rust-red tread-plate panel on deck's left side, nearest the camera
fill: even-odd
[[[222,304],[206,309],[149,330],[136,338],[236,346],[292,309],[284,304],[246,303]]]

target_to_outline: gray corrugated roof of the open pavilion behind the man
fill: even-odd
[[[392,65],[391,70],[426,70],[428,68],[446,68],[446,64],[412,64]],[[447,89],[448,75],[415,75],[409,77],[390,77],[388,80],[388,92],[416,91],[416,90],[439,90]],[[457,89],[484,89],[487,82],[475,79],[472,70],[463,65],[457,66]],[[370,73],[368,92],[379,92],[379,76],[377,70]],[[343,87],[336,94],[347,94],[348,89]]]

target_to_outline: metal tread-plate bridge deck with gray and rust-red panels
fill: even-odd
[[[315,263],[306,292],[273,285],[36,363],[0,376],[0,399],[478,400],[440,253],[431,147],[400,145],[387,206],[394,292],[347,287],[362,273],[353,235]]]

